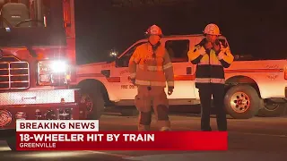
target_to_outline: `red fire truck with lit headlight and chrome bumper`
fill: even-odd
[[[74,0],[0,0],[0,7],[0,136],[15,149],[17,119],[87,117],[70,86]]]

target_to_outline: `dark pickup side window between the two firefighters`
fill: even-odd
[[[187,52],[189,51],[189,40],[169,40],[165,43],[165,48],[170,54],[172,63],[187,62]]]

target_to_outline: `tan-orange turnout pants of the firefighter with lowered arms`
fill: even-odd
[[[163,87],[138,86],[135,106],[140,112],[138,131],[148,131],[152,123],[152,107],[160,131],[170,131],[169,101]]]

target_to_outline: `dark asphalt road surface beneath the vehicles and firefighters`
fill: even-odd
[[[200,117],[171,115],[173,131],[198,131]],[[136,117],[104,115],[100,131],[136,131]],[[287,117],[229,119],[228,151],[34,151],[12,152],[0,142],[0,160],[166,160],[166,161],[286,161]],[[154,125],[154,124],[153,124]],[[215,119],[212,119],[216,130]],[[168,141],[168,140],[167,140]]]

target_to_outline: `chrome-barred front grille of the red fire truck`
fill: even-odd
[[[30,73],[28,62],[21,62],[14,56],[3,57],[0,60],[0,90],[28,89],[29,86]]]

